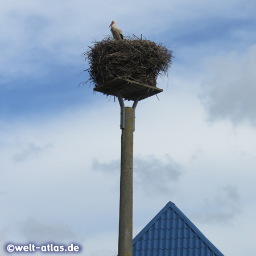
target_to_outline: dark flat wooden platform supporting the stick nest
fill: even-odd
[[[154,86],[141,84],[139,82],[131,81],[129,79],[122,79],[122,77],[116,77],[109,81],[107,84],[99,85],[93,90],[101,92],[106,95],[117,96],[116,90],[120,90],[122,98],[127,101],[135,101],[139,96],[139,100],[151,97],[157,93],[163,92],[162,89]]]

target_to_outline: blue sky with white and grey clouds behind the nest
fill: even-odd
[[[136,108],[133,237],[172,201],[225,256],[253,255],[255,13],[254,0],[0,1],[0,254],[117,255],[120,106],[80,85],[82,53],[115,19],[175,55],[159,100]]]

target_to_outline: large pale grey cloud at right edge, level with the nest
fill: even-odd
[[[212,76],[203,81],[201,97],[209,121],[228,119],[234,125],[256,125],[256,45],[246,53],[230,53],[207,61]]]

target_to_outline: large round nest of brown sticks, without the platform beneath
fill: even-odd
[[[94,86],[106,84],[115,77],[156,86],[158,75],[168,77],[174,56],[162,43],[136,36],[120,41],[108,37],[93,43],[82,56],[88,60],[88,81]]]

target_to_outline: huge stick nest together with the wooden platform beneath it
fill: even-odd
[[[137,94],[143,99],[162,92],[156,87],[156,79],[168,77],[174,56],[161,43],[136,36],[120,41],[109,37],[88,47],[82,54],[89,64],[85,84],[93,83],[94,91],[116,96],[118,87],[126,100],[133,100]]]

